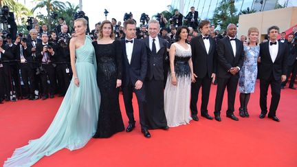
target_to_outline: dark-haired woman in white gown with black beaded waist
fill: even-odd
[[[177,28],[176,41],[170,47],[170,71],[164,92],[164,110],[170,127],[188,124],[190,117],[190,88],[195,82],[191,47],[187,43],[188,27]]]

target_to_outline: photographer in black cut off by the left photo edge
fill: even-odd
[[[3,38],[0,36],[0,89],[4,90],[5,101],[10,97],[10,64],[9,60],[12,60],[13,54],[8,52],[8,47],[3,45]],[[1,91],[2,91],[1,90]],[[3,91],[0,94],[0,98],[3,100]],[[1,101],[1,100],[0,100]]]

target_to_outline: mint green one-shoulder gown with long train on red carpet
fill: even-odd
[[[76,71],[79,87],[74,79],[56,116],[45,134],[30,140],[27,146],[17,148],[4,166],[32,166],[43,156],[67,148],[82,148],[96,133],[100,107],[100,91],[96,82],[96,57],[89,36],[76,49]]]

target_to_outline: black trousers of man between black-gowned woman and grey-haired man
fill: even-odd
[[[140,117],[140,125],[142,129],[147,129],[148,126],[146,125],[146,114],[144,113],[144,105],[146,104],[145,98],[145,86],[142,85],[141,89],[136,90],[135,86],[132,85],[132,82],[129,82],[129,85],[122,87],[123,97],[124,97],[124,105],[126,109],[126,115],[129,118],[129,123],[133,124],[135,122],[134,115],[133,115],[133,91],[135,92],[138,109],[139,109],[139,117]]]

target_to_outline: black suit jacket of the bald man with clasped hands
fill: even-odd
[[[235,42],[236,55],[234,56],[229,36],[217,41],[217,76],[220,78],[230,78],[232,74],[228,70],[231,67],[241,68],[243,65],[243,42],[237,38]],[[235,76],[239,77],[239,73]]]

